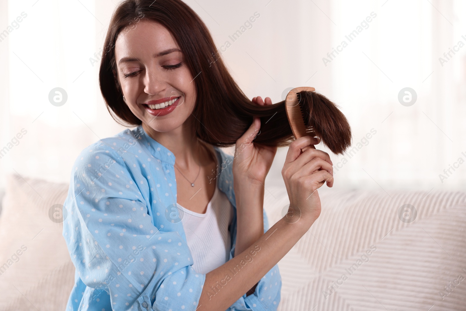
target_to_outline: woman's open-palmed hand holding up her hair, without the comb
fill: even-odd
[[[260,96],[254,97],[252,102],[261,106],[272,104],[270,97],[266,97],[265,102]],[[253,139],[257,135],[260,135],[260,118],[254,117],[249,129],[236,141],[233,176],[241,176],[241,181],[248,184],[264,186],[277,147],[254,144]]]

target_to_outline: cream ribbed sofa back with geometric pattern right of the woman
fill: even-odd
[[[267,188],[272,227],[289,200]],[[278,310],[465,310],[465,192],[317,192],[321,215],[278,263]]]

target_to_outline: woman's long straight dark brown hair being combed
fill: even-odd
[[[287,146],[295,139],[285,101],[265,106],[252,103],[235,83],[222,59],[217,58],[217,48],[204,22],[181,0],[124,0],[116,8],[105,39],[99,81],[107,109],[118,123],[141,124],[123,101],[115,60],[118,34],[140,19],[164,25],[185,55],[185,64],[195,77],[197,97],[192,114],[198,121],[194,130],[199,139],[219,147],[234,145],[254,116],[260,117],[260,133],[254,143]],[[351,130],[343,113],[336,104],[316,92],[302,92],[302,101],[306,111],[311,112],[308,123],[314,124],[316,136],[333,153],[343,154],[351,145]]]

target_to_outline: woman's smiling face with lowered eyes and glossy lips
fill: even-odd
[[[126,104],[143,124],[166,132],[185,123],[196,91],[184,55],[167,28],[140,20],[135,28],[123,29],[115,42],[115,59]]]

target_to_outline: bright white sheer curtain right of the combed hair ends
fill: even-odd
[[[465,8],[460,0],[332,0],[332,47],[348,46],[327,64],[331,94],[343,104],[354,143],[362,142],[352,157],[333,161],[348,160],[337,183],[464,189],[466,47],[456,45],[466,44]],[[371,14],[376,17],[347,40]],[[450,48],[458,51],[440,62]],[[415,102],[401,104],[404,88],[414,90]],[[364,139],[371,129],[377,133]]]

